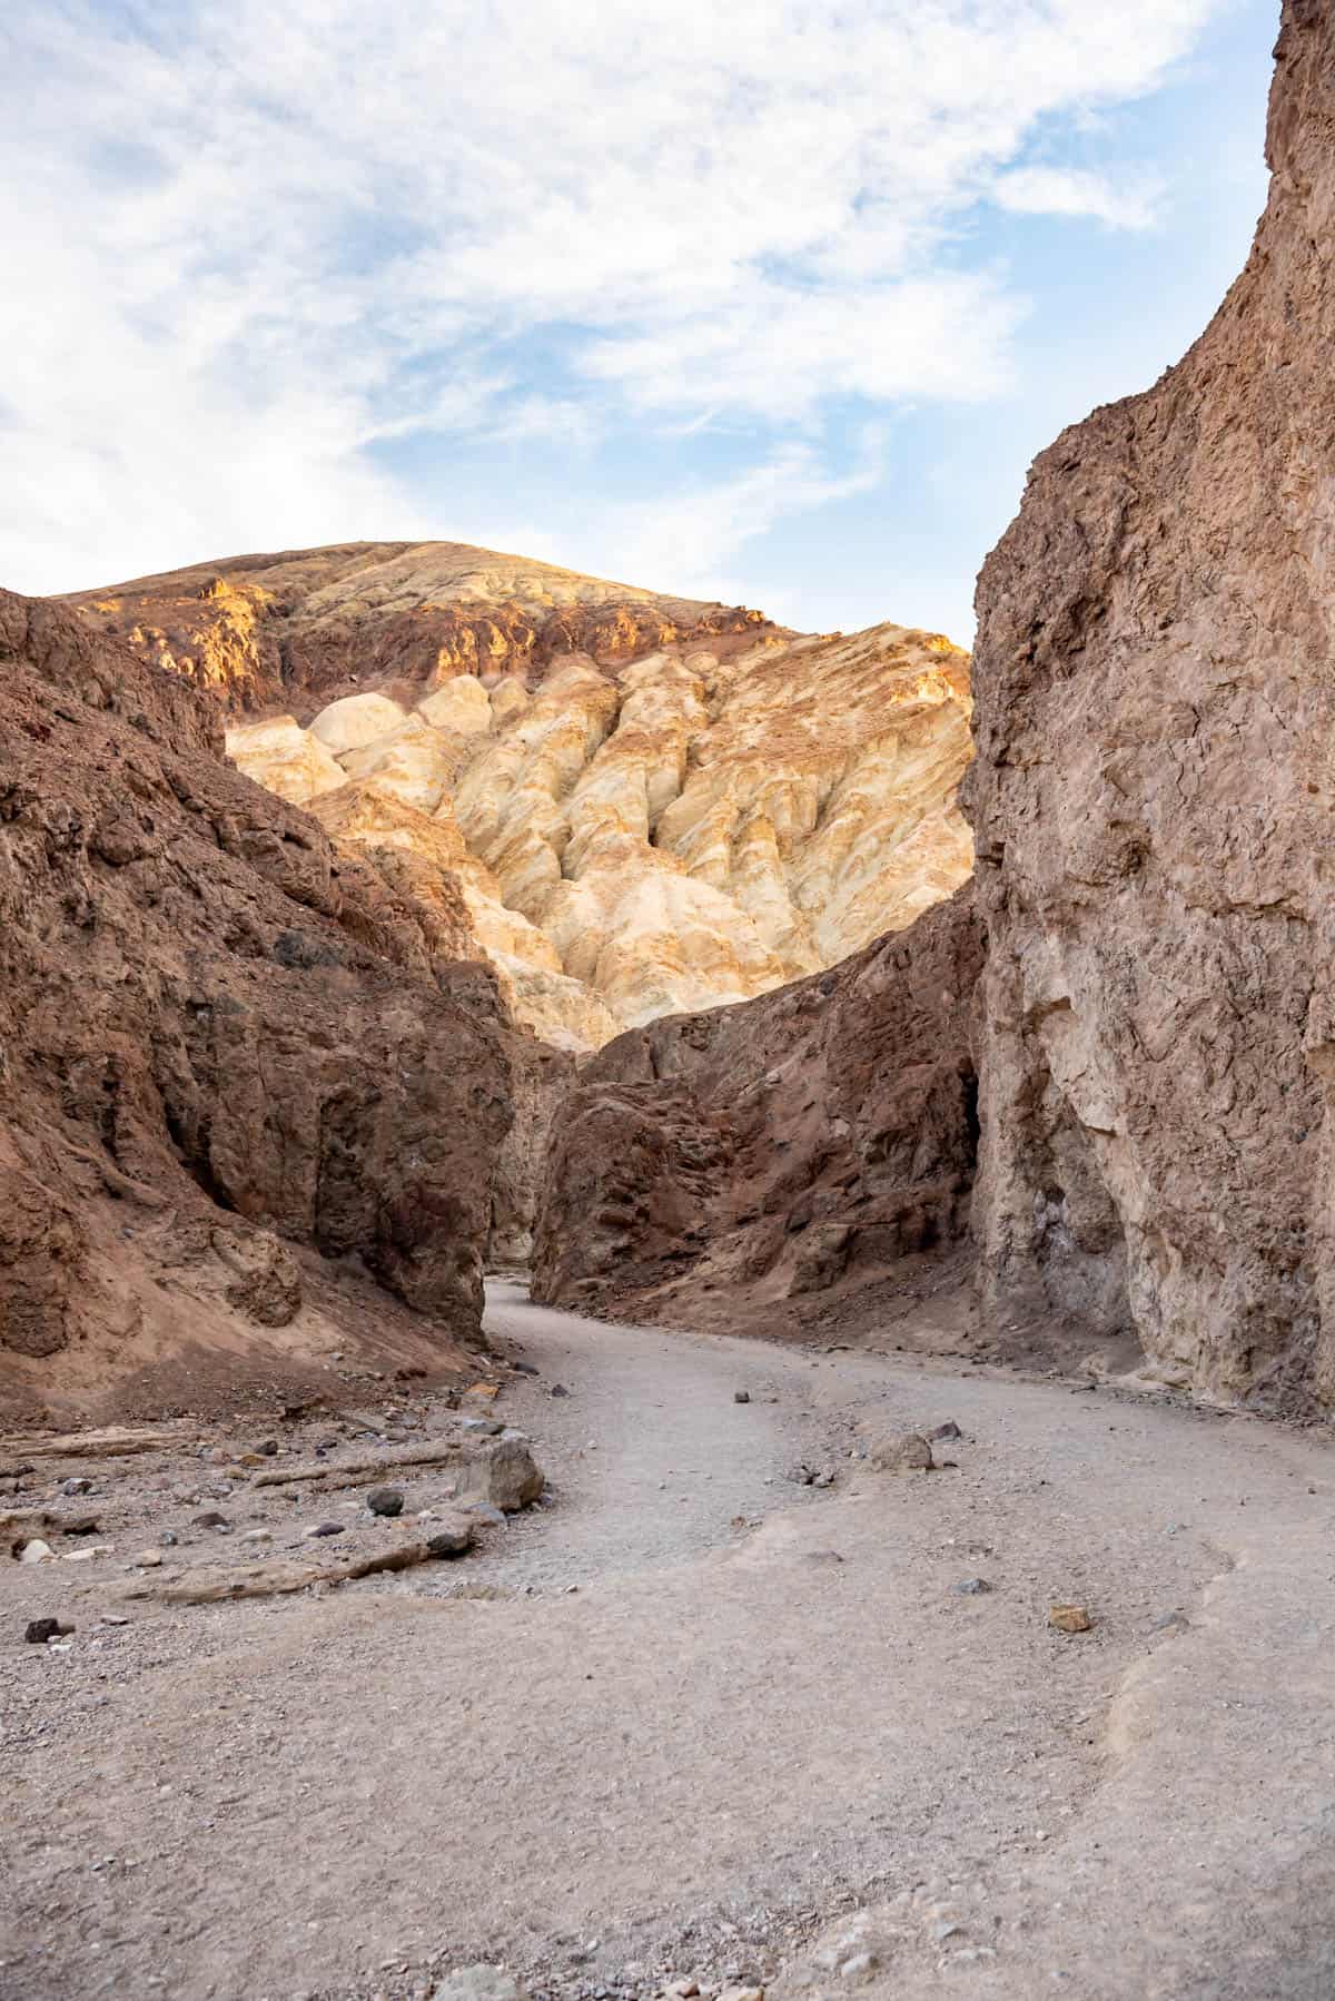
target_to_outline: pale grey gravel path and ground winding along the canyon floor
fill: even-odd
[[[82,1469],[110,1557],[6,1561],[4,2001],[398,2001],[478,1959],[560,1997],[1329,2001],[1327,1443],[516,1287],[490,1327],[538,1371],[500,1409],[552,1505],[478,1555],[130,1601],[128,1537],[200,1541],[180,1463],[136,1461]],[[851,1457],[951,1419],[955,1467]],[[835,1485],[795,1485],[803,1459]],[[240,1561],[264,1511],[220,1507],[212,1559]],[[26,1645],[60,1593],[68,1651]],[[1053,1601],[1093,1631],[1051,1631]]]

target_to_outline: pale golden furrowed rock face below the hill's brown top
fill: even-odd
[[[324,822],[458,868],[516,1017],[588,1049],[819,970],[951,894],[971,864],[967,670],[899,626],[731,658],[574,654],[532,688],[456,674],[410,714],[342,696],[308,752],[290,718],[232,728],[228,750],[286,798],[304,778],[304,802],[332,794],[336,760],[362,796]]]

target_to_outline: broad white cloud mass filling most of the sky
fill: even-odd
[[[831,398],[1005,382],[1021,302],[961,260],[977,202],[1147,218],[1027,148],[1155,88],[1215,4],[14,12],[0,576],[432,532],[372,450],[418,430],[578,452],[761,420],[755,474],[717,492],[755,480],[757,520],[819,504],[861,476],[823,468]],[[675,504],[654,518],[671,556]]]

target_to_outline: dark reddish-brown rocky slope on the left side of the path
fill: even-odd
[[[228,766],[180,678],[0,594],[6,1411],[476,1339],[508,1029],[414,886]]]

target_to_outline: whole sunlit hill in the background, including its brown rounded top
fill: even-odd
[[[817,972],[971,868],[969,656],[935,634],[803,638],[456,544],[78,602],[220,688],[260,784],[452,872],[516,1017],[564,1049]]]

